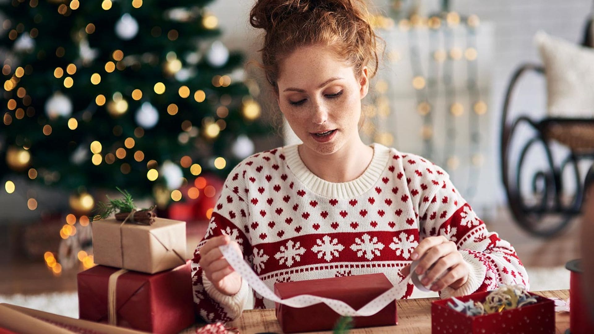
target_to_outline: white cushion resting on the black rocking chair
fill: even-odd
[[[549,116],[594,117],[594,49],[544,31],[534,40],[545,65]]]

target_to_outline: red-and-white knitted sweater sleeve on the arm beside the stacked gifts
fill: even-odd
[[[233,182],[230,178],[225,181],[225,186],[208,223],[206,234],[203,240],[198,243],[192,259],[194,305],[197,314],[209,323],[228,322],[237,319],[241,316],[244,304],[248,299],[249,287],[243,279],[239,292],[228,296],[214,288],[204,275],[204,270],[198,264],[200,262],[200,248],[210,238],[223,234],[229,235],[232,240],[239,244],[244,259],[249,262],[251,245],[249,235],[244,232],[247,230],[248,207],[239,189],[238,182]]]

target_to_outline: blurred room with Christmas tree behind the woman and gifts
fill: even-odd
[[[298,142],[248,64],[253,4],[0,0],[0,301],[77,317],[98,201],[119,187],[185,220],[191,256],[230,169]],[[371,4],[386,53],[364,141],[443,166],[532,290],[568,288],[594,156],[593,2]]]

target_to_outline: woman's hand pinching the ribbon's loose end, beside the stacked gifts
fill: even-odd
[[[235,241],[231,241],[228,235],[219,235],[211,238],[200,248],[200,267],[204,270],[204,275],[208,281],[213,283],[214,287],[225,295],[235,295],[241,288],[241,276],[229,262],[223,257],[219,246],[231,244],[232,248],[238,251],[243,258],[241,249]]]

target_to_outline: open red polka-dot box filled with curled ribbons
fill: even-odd
[[[483,302],[490,292],[456,297]],[[451,298],[431,303],[431,333],[555,333],[555,302],[532,292],[536,303],[500,313],[467,316],[450,308]]]

